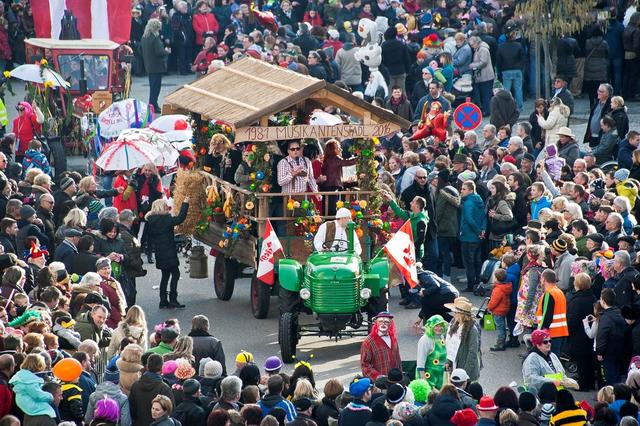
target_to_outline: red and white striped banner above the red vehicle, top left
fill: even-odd
[[[125,43],[131,34],[131,0],[31,0],[36,36],[59,39],[65,10],[78,19],[82,38]]]

